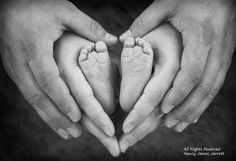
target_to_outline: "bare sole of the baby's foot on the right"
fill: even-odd
[[[121,54],[120,105],[129,111],[135,105],[151,76],[153,50],[142,38],[128,38]]]

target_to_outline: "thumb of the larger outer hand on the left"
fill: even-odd
[[[93,42],[104,41],[107,45],[117,42],[117,37],[108,33],[97,21],[69,3],[60,19],[66,28]]]

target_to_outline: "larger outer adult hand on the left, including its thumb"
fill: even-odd
[[[117,38],[66,0],[5,0],[0,12],[0,52],[7,73],[53,130],[65,139],[77,137],[81,129],[74,123],[81,113],[59,75],[53,44],[65,30],[107,44]],[[113,127],[92,112],[90,119],[113,135]]]

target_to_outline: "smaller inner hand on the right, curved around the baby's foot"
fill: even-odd
[[[172,26],[162,24],[142,38],[152,46],[154,73],[133,109],[129,109],[131,111],[123,123],[124,134],[119,140],[121,152],[125,152],[128,147],[143,139],[162,124],[164,114],[157,104],[156,108],[150,111],[148,117],[140,121],[140,124],[135,126],[132,131],[126,131],[125,128],[130,118],[139,121],[139,117],[142,116],[138,113],[140,110],[143,114],[149,113],[150,107],[156,102],[155,94],[160,91],[163,93],[168,91],[180,67],[181,38]]]

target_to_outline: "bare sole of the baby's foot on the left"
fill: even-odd
[[[96,98],[104,110],[108,114],[112,114],[115,110],[114,91],[106,44],[99,41],[96,44],[87,45],[81,50],[78,61]]]

